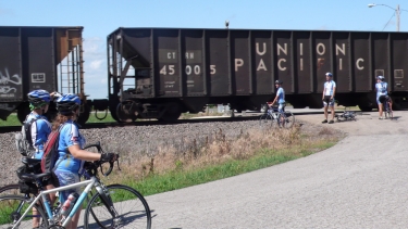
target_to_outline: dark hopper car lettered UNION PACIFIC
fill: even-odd
[[[322,107],[325,73],[343,105],[375,107],[375,77],[407,106],[408,33],[119,28],[108,36],[110,110],[116,119],[175,119],[206,104],[259,109],[284,81],[295,107]],[[119,104],[119,105],[118,105]]]

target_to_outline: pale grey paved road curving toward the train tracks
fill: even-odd
[[[408,228],[404,114],[325,124],[348,137],[308,157],[148,196],[153,228]]]

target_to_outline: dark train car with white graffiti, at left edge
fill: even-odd
[[[86,102],[82,31],[78,26],[0,26],[1,119],[17,110],[23,122],[29,113],[27,93],[35,89],[77,93]],[[51,104],[50,115],[55,112]],[[86,122],[86,103],[82,112],[81,120]]]

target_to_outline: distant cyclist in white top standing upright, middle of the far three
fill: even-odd
[[[329,122],[329,124],[334,123],[334,96],[336,93],[336,82],[333,80],[333,74],[326,73],[325,74],[325,82],[324,82],[324,89],[322,94],[323,105],[324,105],[324,117],[325,119],[322,122],[322,124],[327,123],[327,110],[330,106],[332,111],[332,119]]]

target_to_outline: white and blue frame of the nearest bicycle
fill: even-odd
[[[69,186],[64,186],[64,187],[59,187],[59,188],[55,188],[55,189],[40,191],[40,193],[33,200],[33,203],[27,207],[25,213],[20,217],[18,221],[14,225],[14,227],[12,229],[14,229],[16,226],[20,225],[20,222],[24,219],[24,217],[28,214],[28,212],[30,212],[30,209],[34,207],[34,205],[40,199],[42,199],[42,203],[44,203],[45,209],[47,212],[48,220],[50,222],[50,226],[55,225],[55,221],[54,221],[54,218],[53,218],[53,215],[52,215],[52,212],[51,212],[51,206],[49,205],[49,203],[47,201],[47,194],[54,193],[54,192],[58,192],[58,191],[65,191],[65,190],[74,189],[74,188],[85,187],[85,186],[86,186],[86,188],[81,193],[78,200],[75,202],[75,205],[71,209],[69,216],[62,221],[62,224],[61,224],[62,227],[65,227],[71,221],[72,217],[74,217],[75,213],[78,211],[79,206],[83,204],[84,200],[86,199],[88,192],[92,189],[92,187],[96,187],[97,191],[99,193],[101,193],[101,196],[103,196],[102,199],[104,199],[104,200],[102,200],[104,202],[104,204],[112,206],[111,205],[112,203],[110,203],[110,201],[107,199],[107,196],[103,195],[104,193],[102,194],[103,190],[102,190],[102,188],[100,188],[100,183],[98,181],[98,178],[91,177],[89,180],[84,180],[84,181],[81,181],[81,182],[77,182],[77,183],[73,183],[73,185],[69,185]],[[116,213],[112,212],[111,207],[108,207],[108,211],[112,214],[112,216],[118,215]]]

